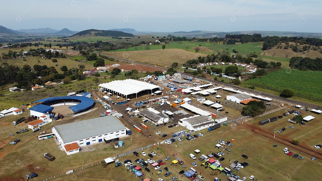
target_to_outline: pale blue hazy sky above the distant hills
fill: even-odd
[[[0,25],[13,30],[322,32],[321,9],[321,0],[16,0],[2,2]]]

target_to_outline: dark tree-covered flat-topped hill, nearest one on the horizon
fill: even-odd
[[[120,32],[120,31],[110,31],[110,30],[95,30],[95,29],[84,30],[71,35],[71,37],[83,36],[83,35],[106,36],[106,37],[134,37],[134,35],[131,33]]]

